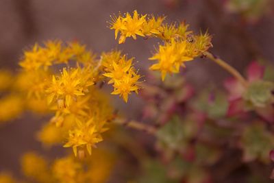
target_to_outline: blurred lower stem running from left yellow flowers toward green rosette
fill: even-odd
[[[115,119],[114,123],[119,124],[119,125],[125,125],[127,127],[133,128],[135,130],[147,132],[148,134],[152,134],[152,135],[154,135],[155,132],[157,131],[156,128],[151,125],[146,125],[144,123],[140,123],[140,122],[133,121],[133,120]]]

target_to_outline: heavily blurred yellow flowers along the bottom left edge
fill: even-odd
[[[93,156],[85,159],[85,162],[73,156],[49,161],[36,152],[27,152],[21,157],[21,169],[26,182],[103,183],[113,169],[115,158],[115,154],[111,154],[107,149],[95,151]],[[14,180],[10,173],[0,173],[0,182],[19,181]]]

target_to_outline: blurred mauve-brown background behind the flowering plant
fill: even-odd
[[[138,10],[141,14],[167,16],[166,21],[186,21],[190,29],[212,34],[211,51],[238,71],[244,71],[252,60],[274,61],[273,0],[1,0],[0,1],[0,68],[16,71],[22,51],[35,42],[60,39],[78,40],[88,49],[101,53],[122,49],[136,58],[136,68],[145,73],[151,62],[148,58],[158,40],[128,38],[118,45],[114,31],[108,28],[111,14]],[[221,81],[229,74],[208,60],[196,60],[184,71],[187,80],[196,88]],[[138,117],[142,101],[114,103]],[[7,109],[8,110],[8,109]],[[39,119],[40,121],[40,119]],[[36,117],[25,114],[14,123],[0,127],[0,171],[18,173],[18,159],[29,149],[40,151],[34,132],[40,129]],[[54,155],[58,148],[46,151]]]

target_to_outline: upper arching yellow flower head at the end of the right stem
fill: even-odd
[[[119,43],[124,43],[127,37],[136,39],[136,35],[164,40],[164,45],[159,46],[158,53],[150,58],[158,60],[150,69],[161,71],[162,80],[166,73],[179,73],[180,66],[185,67],[184,62],[202,56],[203,52],[212,47],[208,33],[195,35],[188,31],[188,25],[184,22],[169,25],[163,21],[164,17],[140,15],[135,10],[132,16],[128,12],[125,16],[114,16],[110,23],[110,29],[115,29],[115,38],[120,32]]]

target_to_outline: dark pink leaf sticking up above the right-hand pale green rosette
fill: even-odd
[[[265,67],[258,64],[258,62],[251,62],[251,64],[247,67],[247,77],[249,82],[262,80],[262,77],[264,76],[264,69]]]

